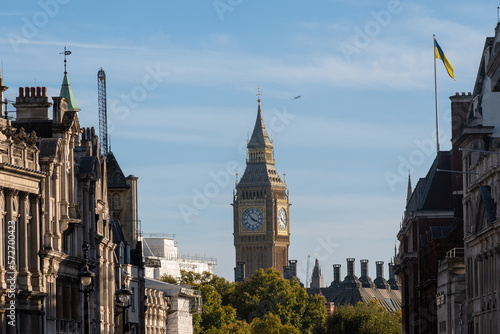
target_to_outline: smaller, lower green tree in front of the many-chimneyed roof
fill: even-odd
[[[400,334],[401,312],[388,312],[376,300],[359,302],[356,307],[338,306],[327,319],[327,333]]]

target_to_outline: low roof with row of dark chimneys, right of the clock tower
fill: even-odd
[[[311,287],[307,289],[307,293],[324,296],[329,312],[336,306],[355,306],[358,302],[368,303],[372,299],[375,299],[380,306],[389,312],[399,311],[401,309],[401,291],[400,285],[392,273],[393,264],[389,264],[389,281],[387,281],[384,278],[384,262],[377,261],[377,277],[372,281],[368,274],[368,260],[361,260],[361,277],[359,278],[355,273],[354,262],[353,258],[347,259],[347,275],[344,280],[341,280],[341,265],[334,264],[333,281],[330,286],[324,287],[319,284],[321,272],[318,259],[316,259]]]

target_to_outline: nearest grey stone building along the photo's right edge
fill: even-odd
[[[500,24],[486,39],[463,130],[453,138],[460,145],[464,193],[464,262],[467,330],[498,333],[500,311]],[[458,98],[452,99],[453,102]],[[463,308],[462,308],[463,309]]]

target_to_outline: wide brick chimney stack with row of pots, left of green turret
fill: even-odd
[[[46,91],[47,88],[43,88]],[[43,96],[41,87],[19,87],[19,96],[14,104],[16,120],[48,120],[51,106],[48,97]]]

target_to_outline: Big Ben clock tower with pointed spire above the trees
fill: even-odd
[[[247,145],[247,166],[236,185],[232,204],[236,280],[260,268],[274,267],[283,274],[283,267],[288,265],[288,192],[274,166],[273,143],[262,118],[260,91],[257,96],[259,106]]]

